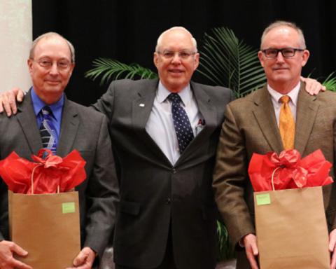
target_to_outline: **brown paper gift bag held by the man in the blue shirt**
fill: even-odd
[[[20,194],[8,191],[10,238],[28,251],[18,260],[34,269],[62,269],[80,251],[78,192]]]

